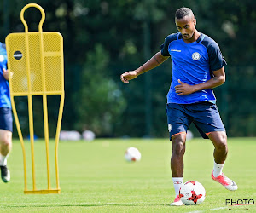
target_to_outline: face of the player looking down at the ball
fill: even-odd
[[[195,33],[196,20],[190,16],[185,16],[178,20],[175,18],[177,30],[182,34],[184,40],[189,40]]]

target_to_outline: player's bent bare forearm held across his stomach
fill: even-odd
[[[178,80],[179,85],[175,87],[177,95],[189,95],[203,89],[212,89],[222,85],[225,82],[224,66],[217,71],[213,72],[213,78],[206,83],[199,83],[196,85],[189,85]]]

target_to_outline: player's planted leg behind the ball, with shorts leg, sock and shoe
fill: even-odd
[[[176,193],[174,202],[171,205],[183,205],[178,193],[183,185],[183,155],[185,153],[186,132],[192,119],[186,114],[186,107],[178,104],[168,104],[166,114],[170,140],[172,140],[171,170]]]

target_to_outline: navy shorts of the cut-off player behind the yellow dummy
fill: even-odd
[[[13,115],[11,108],[0,108],[0,130],[13,131]]]

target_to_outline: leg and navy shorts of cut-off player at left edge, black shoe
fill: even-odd
[[[12,148],[13,118],[10,108],[0,108],[0,170],[4,182],[10,180],[7,158]]]

